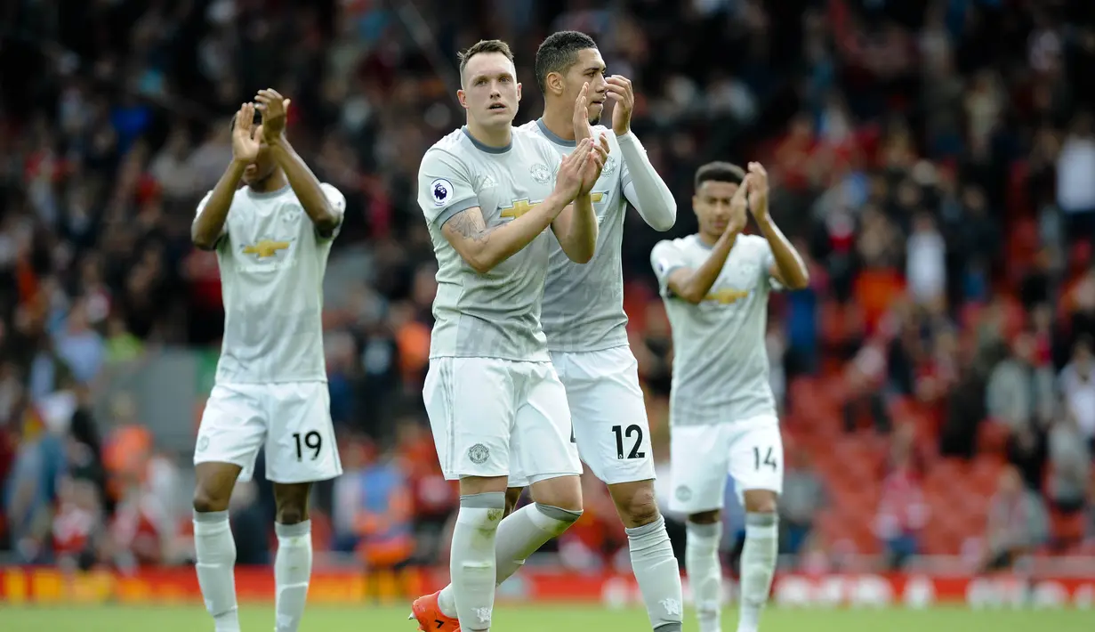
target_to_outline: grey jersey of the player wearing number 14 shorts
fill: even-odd
[[[681,267],[696,269],[708,255],[711,246],[695,234],[659,242],[650,253],[673,332],[670,423],[775,415],[764,346],[772,249],[763,238],[739,235],[700,304],[673,296],[669,275]]]

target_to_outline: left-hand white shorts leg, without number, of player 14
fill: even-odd
[[[723,424],[669,428],[672,510],[699,514],[723,508],[728,448]]]

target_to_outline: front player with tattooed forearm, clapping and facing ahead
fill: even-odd
[[[423,397],[441,468],[459,479],[461,495],[448,613],[440,593],[415,600],[412,617],[422,630],[489,630],[496,548],[509,552],[503,564],[531,553],[520,549],[525,540],[497,532],[510,473],[529,476],[535,504],[525,519],[543,541],[581,515],[581,463],[540,311],[552,239],[576,263],[593,256],[589,193],[608,139],[595,145],[587,104],[576,103],[572,117],[583,139],[561,161],[550,142],[512,126],[521,96],[516,77],[504,42],[461,54],[457,95],[468,124],[434,145],[418,171],[418,205],[438,261]]]

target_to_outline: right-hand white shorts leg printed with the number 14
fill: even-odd
[[[735,493],[750,490],[783,492],[783,437],[774,415],[735,422],[729,426],[730,467]]]

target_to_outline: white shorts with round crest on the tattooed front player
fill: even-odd
[[[566,390],[551,363],[430,358],[423,400],[445,478],[581,473]]]

